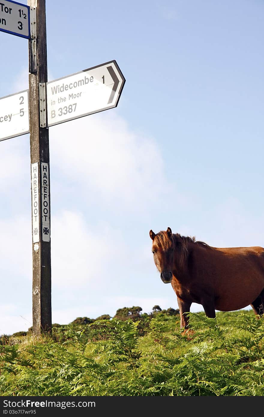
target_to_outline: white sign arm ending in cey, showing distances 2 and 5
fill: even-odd
[[[29,133],[28,90],[0,98],[0,141],[25,133]]]

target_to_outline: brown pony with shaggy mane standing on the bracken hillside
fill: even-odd
[[[264,248],[214,248],[189,236],[149,232],[154,262],[165,284],[177,295],[181,328],[188,328],[186,312],[201,304],[207,317],[215,310],[233,311],[251,305],[264,313]]]

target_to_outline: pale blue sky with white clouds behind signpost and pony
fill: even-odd
[[[48,81],[110,60],[126,78],[116,108],[49,128],[53,323],[177,308],[150,229],[264,246],[263,13],[261,0],[46,0]],[[28,88],[28,40],[0,38],[4,97]],[[11,334],[32,325],[29,134],[0,142],[0,195]]]

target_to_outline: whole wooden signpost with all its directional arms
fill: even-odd
[[[115,60],[48,82],[45,0],[0,0],[0,30],[29,40],[29,89],[0,98],[0,141],[30,133],[33,334],[51,333],[49,126],[116,107]]]

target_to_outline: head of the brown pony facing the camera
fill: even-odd
[[[166,231],[160,231],[155,234],[152,230],[149,231],[149,236],[152,239],[152,253],[155,265],[161,274],[161,279],[164,284],[168,284],[172,280],[175,254],[175,242],[168,227]]]

